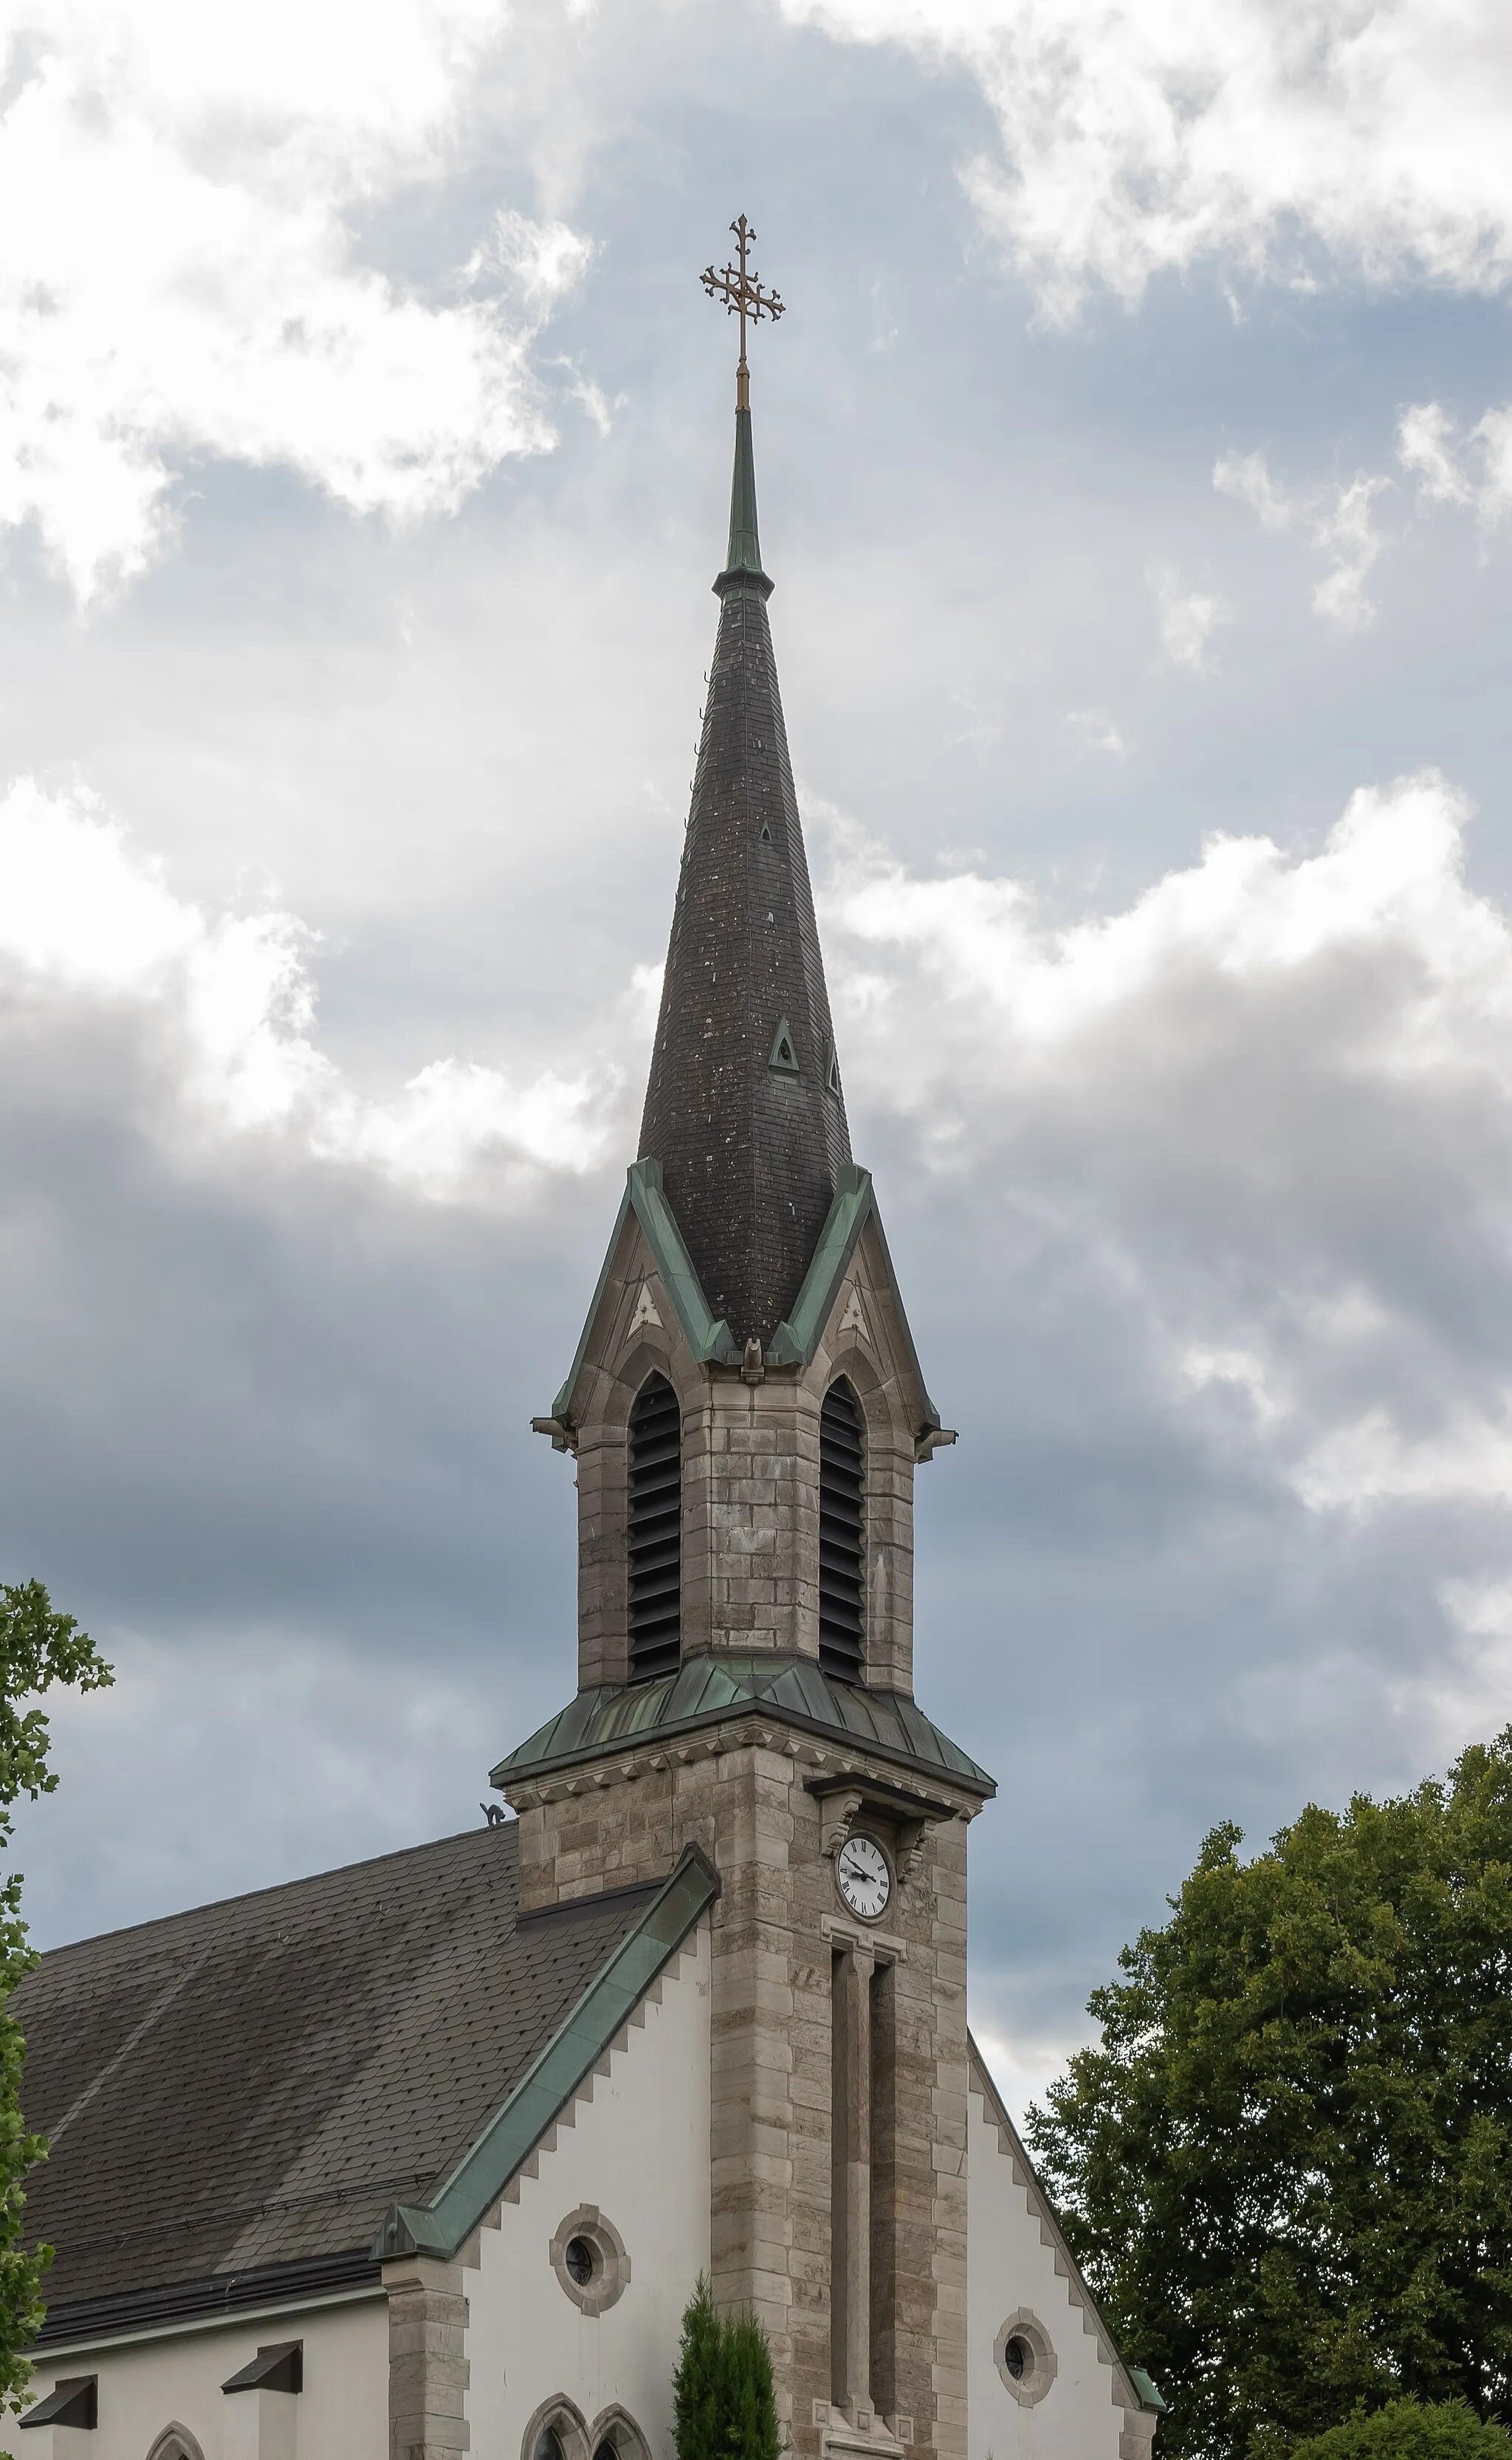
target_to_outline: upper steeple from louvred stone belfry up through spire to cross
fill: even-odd
[[[745,325],[782,300],[733,229],[738,266],[703,276],[742,322],[730,544],[639,1159],[536,1419],[578,1456],[570,1749],[622,1685],[637,1717],[681,1720],[688,1685],[703,1715],[718,1658],[720,1683],[792,1678],[787,1710],[821,1724],[848,1688],[870,1720],[888,1700],[880,1747],[976,1781],[912,1705],[915,1466],[954,1437],[851,1161],[757,534]]]

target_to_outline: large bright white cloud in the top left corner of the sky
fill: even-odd
[[[162,551],[192,455],[415,519],[551,443],[529,342],[588,244],[504,216],[443,300],[352,244],[445,167],[499,25],[499,0],[15,0],[0,524],[34,522],[81,603]]]

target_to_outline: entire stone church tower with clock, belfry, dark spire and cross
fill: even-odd
[[[804,2460],[966,2450],[966,1823],[912,1695],[939,1424],[851,1161],[755,507],[730,544],[639,1161],[551,1417],[578,1695],[494,1784],[526,1906],[715,1862],[713,2283]]]

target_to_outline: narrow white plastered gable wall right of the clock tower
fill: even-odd
[[[966,2455],[969,2460],[1119,2460],[1143,2453],[1146,2418],[1121,2406],[1121,2369],[1074,2283],[1040,2197],[976,2076],[966,2121]],[[1010,2315],[1035,2317],[1055,2379],[1020,2406],[996,2367]]]

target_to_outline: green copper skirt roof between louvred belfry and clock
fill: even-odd
[[[966,1793],[996,1793],[993,1779],[902,1692],[831,1683],[814,1658],[688,1658],[654,1683],[605,1683],[578,1692],[529,1742],[492,1771],[492,1786],[546,1776],[644,1742],[688,1734],[755,1710],[838,1749],[875,1752],[895,1766],[929,1774]]]

